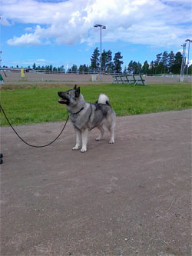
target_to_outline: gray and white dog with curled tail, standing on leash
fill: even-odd
[[[59,91],[58,100],[61,104],[66,104],[69,117],[76,132],[76,144],[73,150],[78,150],[81,145],[81,152],[87,151],[88,131],[93,128],[100,130],[100,135],[96,141],[100,141],[104,135],[104,126],[108,128],[111,133],[109,143],[114,143],[114,127],[115,127],[115,113],[111,108],[108,96],[99,95],[96,103],[88,103],[84,100],[80,93],[80,87],[74,85],[74,88],[68,91]]]

